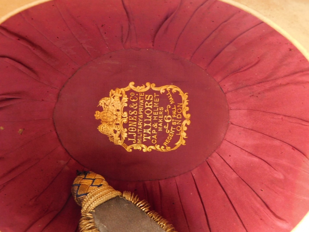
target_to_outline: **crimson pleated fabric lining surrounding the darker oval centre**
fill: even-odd
[[[226,93],[230,126],[191,172],[108,183],[179,232],[292,230],[309,210],[309,63],[259,19],[200,0],[51,1],[2,23],[0,230],[77,230],[70,185],[84,167],[61,146],[53,109],[82,65],[130,48],[203,67]]]

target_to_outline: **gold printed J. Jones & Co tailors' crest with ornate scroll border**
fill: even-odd
[[[188,94],[175,85],[155,87],[147,82],[135,87],[130,82],[99,101],[103,111],[95,112],[95,118],[101,120],[98,130],[128,152],[132,148],[144,152],[176,150],[187,138],[187,99]]]

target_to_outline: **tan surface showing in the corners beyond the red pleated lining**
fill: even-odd
[[[287,37],[309,60],[309,0],[222,1],[248,11],[270,24]],[[47,0],[0,0],[0,23],[41,2],[47,2]],[[293,232],[307,232],[308,228],[309,212]]]

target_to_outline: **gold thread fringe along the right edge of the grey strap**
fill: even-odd
[[[139,200],[138,195],[134,196],[134,193],[124,191],[122,197],[135,204],[138,208],[144,211],[151,219],[158,223],[159,226],[166,232],[177,232],[173,225],[171,225],[166,219],[164,219],[159,213],[154,210],[150,211],[150,204],[146,200]]]

